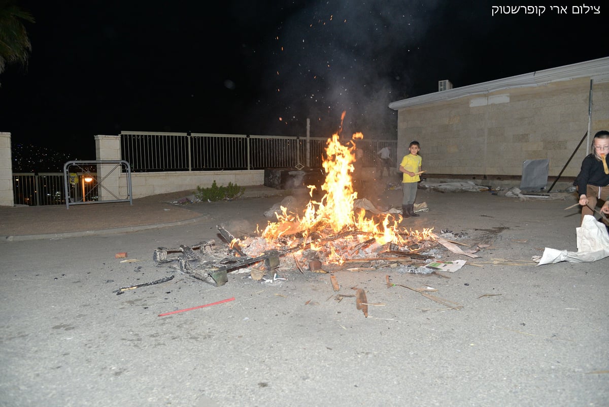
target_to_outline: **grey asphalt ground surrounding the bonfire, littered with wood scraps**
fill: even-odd
[[[370,198],[399,207],[400,196]],[[284,198],[169,203],[179,197],[0,210],[0,235],[13,236],[0,242],[0,406],[609,405],[609,260],[531,261],[544,247],[577,251],[574,196],[419,190],[429,211],[404,227],[483,246],[479,258],[434,249],[466,260],[444,277],[343,267],[339,291],[306,268],[213,286],[156,263],[158,247],[222,244],[217,225],[253,233]]]

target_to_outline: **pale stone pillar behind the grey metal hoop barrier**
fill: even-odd
[[[121,136],[95,136],[96,160],[120,160],[121,159]],[[105,178],[104,178],[105,177]],[[103,179],[103,181],[102,181]],[[121,166],[115,164],[97,165],[97,182],[102,181],[102,188],[97,188],[99,200],[125,199],[119,194],[121,182]],[[113,195],[114,194],[114,195]]]

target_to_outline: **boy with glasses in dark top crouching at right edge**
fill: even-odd
[[[582,169],[577,175],[574,185],[577,185],[579,204],[582,205],[583,216],[593,215],[596,203],[604,201],[600,213],[609,216],[609,132],[601,130],[592,140],[593,152],[582,161]],[[605,222],[606,223],[606,222]]]

